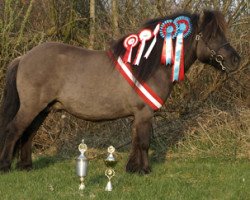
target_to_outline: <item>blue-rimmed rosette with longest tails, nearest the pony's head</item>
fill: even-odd
[[[172,68],[172,81],[184,79],[184,38],[191,33],[190,19],[185,16],[177,17],[174,22],[178,24],[178,33],[175,46],[175,60]]]

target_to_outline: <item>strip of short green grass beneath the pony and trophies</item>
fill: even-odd
[[[78,191],[74,159],[37,158],[35,170],[0,175],[0,199],[249,199],[249,161],[219,158],[168,159],[153,162],[153,172],[124,171],[126,155],[116,166],[114,190],[105,192],[102,160],[91,160],[86,189]]]

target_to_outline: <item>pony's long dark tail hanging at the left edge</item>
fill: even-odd
[[[8,66],[6,73],[6,85],[0,107],[0,154],[5,142],[5,129],[8,123],[15,117],[20,106],[16,87],[16,76],[19,62],[20,57],[14,59]]]

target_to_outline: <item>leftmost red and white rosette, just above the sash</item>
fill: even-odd
[[[123,57],[124,62],[129,62],[131,63],[131,57],[132,57],[132,50],[133,48],[138,44],[139,38],[137,35],[132,34],[129,35],[123,42],[123,46],[126,49],[126,53]]]

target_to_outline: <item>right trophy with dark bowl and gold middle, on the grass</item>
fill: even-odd
[[[113,187],[111,184],[111,179],[113,178],[113,176],[115,176],[115,171],[114,171],[114,167],[117,163],[113,153],[115,152],[115,148],[113,146],[110,146],[108,148],[108,157],[104,160],[105,165],[108,167],[108,169],[106,169],[105,171],[105,176],[108,177],[108,183],[105,187],[105,191],[112,191]]]

